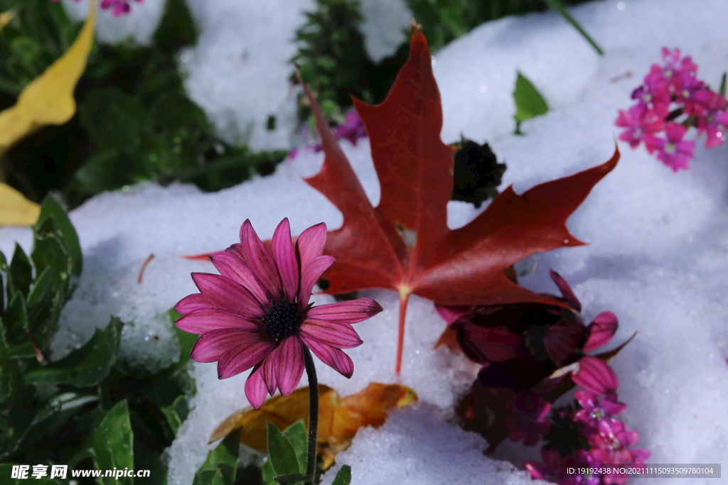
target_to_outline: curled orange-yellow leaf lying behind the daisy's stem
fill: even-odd
[[[339,398],[336,390],[319,385],[318,454],[323,457],[323,469],[333,465],[337,453],[349,448],[359,428],[379,427],[387,419],[389,409],[415,401],[417,394],[404,385],[372,382],[366,389],[345,398]],[[271,422],[283,430],[298,420],[304,420],[308,427],[307,387],[296,389],[288,396],[269,398],[259,409],[248,407],[234,412],[213,431],[210,443],[242,428],[240,443],[266,453],[266,423]]]

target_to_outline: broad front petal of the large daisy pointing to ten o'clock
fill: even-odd
[[[253,294],[231,279],[207,273],[192,273],[192,281],[205,298],[210,300],[213,308],[222,308],[252,318],[265,315]]]

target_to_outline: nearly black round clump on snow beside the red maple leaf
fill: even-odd
[[[463,138],[456,147],[451,200],[470,202],[478,208],[498,195],[506,165],[498,163],[488,143],[478,145]]]

